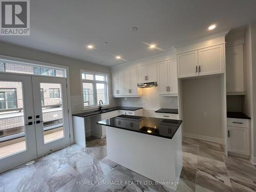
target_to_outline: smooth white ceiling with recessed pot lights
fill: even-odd
[[[0,40],[105,66],[256,20],[255,0],[32,0],[30,7],[30,36]],[[208,31],[211,24],[217,28]],[[139,30],[131,32],[132,27]],[[148,50],[144,43],[161,50]],[[88,50],[89,44],[96,48]]]

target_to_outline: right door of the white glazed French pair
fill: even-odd
[[[37,154],[70,143],[65,78],[32,77]]]

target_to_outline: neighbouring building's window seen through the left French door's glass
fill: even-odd
[[[0,89],[0,110],[16,109],[17,93],[16,89]]]

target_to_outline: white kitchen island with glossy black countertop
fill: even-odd
[[[182,169],[181,120],[119,115],[106,126],[107,158],[176,190]]]

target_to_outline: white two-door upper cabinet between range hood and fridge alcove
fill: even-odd
[[[158,92],[160,95],[178,94],[176,59],[157,63]]]

